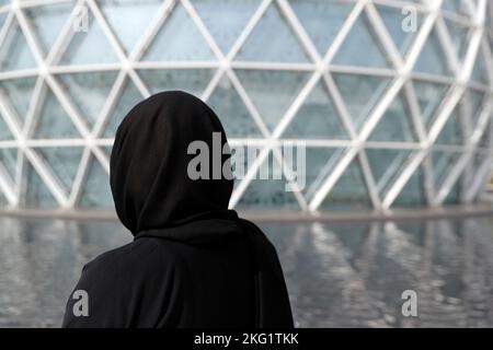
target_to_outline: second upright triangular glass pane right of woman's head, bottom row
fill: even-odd
[[[329,211],[370,210],[371,201],[357,158],[346,167],[320,209]]]

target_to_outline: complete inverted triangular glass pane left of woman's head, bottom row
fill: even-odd
[[[79,168],[82,148],[38,148],[36,151],[69,192]]]

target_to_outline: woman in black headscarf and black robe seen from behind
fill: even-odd
[[[213,132],[227,143],[216,114],[183,92],[152,95],[124,118],[110,179],[135,238],[84,266],[74,290],[88,292],[89,316],[74,316],[72,293],[64,327],[293,327],[274,246],[228,210],[232,180],[187,175],[188,144],[213,151]]]

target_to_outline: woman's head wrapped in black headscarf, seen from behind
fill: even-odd
[[[197,97],[169,91],[137,104],[123,119],[111,155],[110,180],[116,212],[134,234],[167,228],[228,208],[233,182],[221,172],[216,179],[188,174],[191,143],[213,150],[227,138],[219,118]],[[208,167],[214,156],[208,153]],[[204,165],[204,164],[203,164]]]

